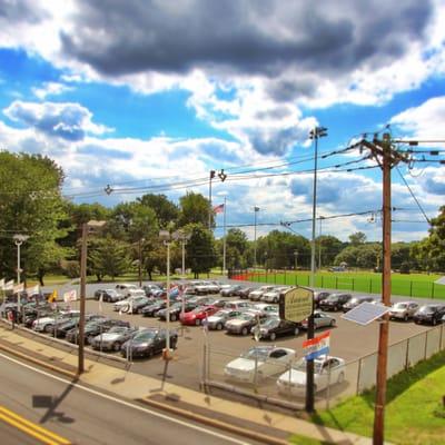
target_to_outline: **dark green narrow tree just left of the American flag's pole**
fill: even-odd
[[[187,264],[197,278],[198,274],[209,273],[216,265],[214,236],[200,224],[190,224],[185,230],[191,235],[187,244]]]

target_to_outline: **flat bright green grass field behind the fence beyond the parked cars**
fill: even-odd
[[[307,271],[257,271],[241,277],[250,281],[270,283],[277,285],[309,286],[310,276]],[[392,274],[392,295],[409,297],[445,299],[445,286],[434,281],[441,275],[426,274]],[[370,294],[382,293],[382,274],[375,273],[317,273],[315,287],[326,289],[355,290]]]

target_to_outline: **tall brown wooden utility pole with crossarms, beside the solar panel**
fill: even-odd
[[[384,134],[379,140],[374,137],[373,142],[364,140],[363,146],[370,150],[372,157],[383,171],[383,273],[382,273],[382,303],[390,306],[390,170],[399,161],[408,159],[392,147],[389,134]],[[374,409],[373,444],[383,445],[385,432],[386,378],[388,362],[389,315],[385,314],[379,326],[376,399]]]

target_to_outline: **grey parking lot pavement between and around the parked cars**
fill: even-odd
[[[236,299],[236,298],[228,298]],[[75,307],[76,308],[76,307]],[[141,327],[166,327],[166,322],[158,318],[142,317],[141,315],[119,315],[112,309],[112,304],[101,304],[102,314],[113,318],[121,318],[130,322],[131,325]],[[99,301],[88,300],[87,312],[98,313]],[[368,326],[359,326],[354,323],[340,318],[342,313],[330,313],[337,322],[337,326],[332,330],[330,354],[344,358],[346,362],[356,360],[367,354],[373,354],[377,349],[378,344],[378,326],[375,322]],[[199,387],[199,376],[202,365],[202,350],[206,339],[212,350],[227,353],[228,356],[239,356],[249,347],[256,345],[251,337],[240,335],[228,335],[224,330],[211,330],[207,333],[207,337],[202,327],[187,326],[181,327],[178,322],[170,323],[172,329],[177,329],[179,334],[178,347],[175,352],[175,359],[169,367],[169,376],[178,385],[185,385],[190,388]],[[427,330],[428,326],[418,326],[412,322],[390,322],[389,344],[398,343],[403,339],[412,337],[416,334]],[[327,329],[325,329],[327,330]],[[322,333],[323,329],[316,333]],[[301,333],[297,337],[277,338],[274,343],[260,342],[261,344],[275,344],[284,347],[293,348],[297,352],[297,357],[303,356],[303,342],[306,334]],[[149,375],[151,377],[161,377],[164,373],[164,362],[158,357],[150,360],[135,360],[131,369],[136,373]]]

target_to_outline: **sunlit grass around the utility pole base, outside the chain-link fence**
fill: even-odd
[[[394,444],[445,443],[445,352],[390,378],[385,409],[385,439]],[[352,397],[313,416],[316,424],[372,436],[375,390]]]

